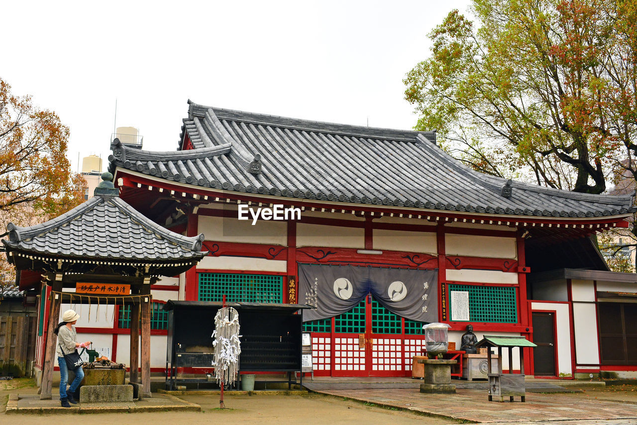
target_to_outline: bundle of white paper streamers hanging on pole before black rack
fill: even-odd
[[[232,307],[220,308],[215,315],[215,331],[212,345],[215,349],[215,378],[224,384],[233,384],[236,380],[241,342],[239,340],[239,313]]]

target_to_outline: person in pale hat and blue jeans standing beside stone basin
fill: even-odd
[[[75,379],[71,382],[69,389],[66,389],[66,384],[69,380],[69,370],[66,366],[66,360],[64,360],[64,354],[71,354],[78,347],[89,347],[89,342],[79,343],[77,340],[77,333],[73,325],[80,319],[80,315],[74,310],[66,310],[62,315],[62,322],[60,322],[54,330],[57,335],[57,348],[55,349],[55,355],[57,356],[57,364],[60,366],[60,401],[62,407],[71,407],[69,403],[76,404],[75,391],[80,386],[80,382],[84,378],[84,371],[82,366],[76,368]]]

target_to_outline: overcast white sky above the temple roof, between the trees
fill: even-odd
[[[187,99],[221,108],[410,129],[403,77],[468,0],[11,1],[0,76],[71,129],[69,158],[117,126],[175,150]]]

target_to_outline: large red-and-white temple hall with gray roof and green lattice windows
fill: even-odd
[[[591,240],[628,225],[633,196],[483,175],[447,155],[433,131],[190,101],[177,150],[118,140],[111,148],[118,201],[187,238],[205,235],[208,254],[196,266],[150,285],[154,304],[226,295],[316,306],[303,313],[315,375],[410,376],[422,325],[434,321],[450,324],[457,347],[468,324],[478,339],[528,338],[538,348],[525,352],[527,374],[636,370],[631,331],[623,322],[615,329],[624,356],[608,357],[605,344],[619,340],[606,338],[599,319],[615,305],[629,317],[637,304],[626,294],[637,285],[608,271]],[[162,372],[166,328],[155,312],[151,370]],[[80,330],[126,362],[129,331],[117,314]]]

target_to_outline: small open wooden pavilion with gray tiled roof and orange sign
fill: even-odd
[[[110,173],[102,177],[94,198],[42,224],[9,224],[9,238],[3,239],[21,288],[36,284],[41,291],[36,350],[41,398],[52,396],[57,369],[53,331],[60,312],[68,308],[80,313],[78,337],[97,347],[103,345],[104,322],[127,319],[128,343],[122,351],[128,355],[120,363],[129,366],[131,382],[140,382],[141,364],[143,395],[150,396],[151,288],[160,277],[182,273],[206,255],[202,234],[186,237],[155,224],[119,198]],[[117,334],[111,335],[117,341]],[[107,354],[115,357],[116,348]]]

